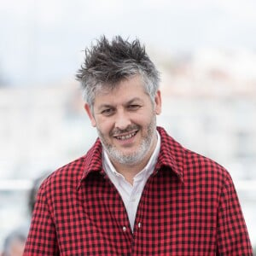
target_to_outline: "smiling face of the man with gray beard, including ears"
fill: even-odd
[[[113,163],[132,166],[149,159],[156,144],[155,115],[160,113],[160,103],[160,91],[152,102],[137,75],[113,90],[97,92],[93,113],[85,105]]]

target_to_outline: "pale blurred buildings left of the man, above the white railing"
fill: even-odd
[[[77,87],[0,89],[1,178],[32,178],[86,152],[90,126]]]

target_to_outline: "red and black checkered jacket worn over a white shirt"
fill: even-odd
[[[42,184],[24,255],[253,255],[229,173],[158,131],[133,233],[97,140]]]

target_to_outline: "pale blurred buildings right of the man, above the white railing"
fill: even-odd
[[[256,179],[256,54],[201,50],[163,70],[166,127],[233,177]]]

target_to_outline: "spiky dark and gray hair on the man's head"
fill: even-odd
[[[160,73],[149,59],[139,40],[131,42],[116,36],[108,41],[105,36],[84,50],[84,63],[76,74],[81,83],[84,101],[94,104],[97,90],[113,89],[123,79],[141,75],[145,90],[152,99],[159,89]]]

